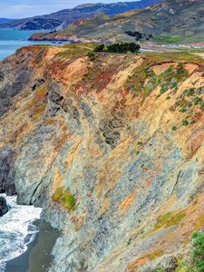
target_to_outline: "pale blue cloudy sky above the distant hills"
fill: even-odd
[[[133,1],[133,0],[125,0]],[[138,1],[138,0],[135,0]],[[111,3],[122,0],[0,0],[0,18],[24,18],[45,15],[84,3]]]

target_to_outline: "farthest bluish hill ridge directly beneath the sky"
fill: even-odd
[[[120,2],[112,4],[86,4],[78,5],[71,9],[64,9],[50,15],[40,15],[5,22],[0,27],[15,27],[22,30],[38,29],[63,29],[74,21],[87,18],[92,15],[117,15],[131,9],[138,9],[147,5],[158,3],[160,0],[141,0],[135,2]]]

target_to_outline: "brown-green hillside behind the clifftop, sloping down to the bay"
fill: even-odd
[[[96,15],[51,34],[34,34],[34,40],[159,43],[204,42],[204,1],[163,0],[139,10],[114,16]]]

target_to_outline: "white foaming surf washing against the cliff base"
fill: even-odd
[[[22,255],[27,245],[34,241],[38,228],[32,222],[40,219],[42,209],[17,205],[17,197],[1,196],[10,208],[0,218],[0,272],[4,272],[6,261]]]

